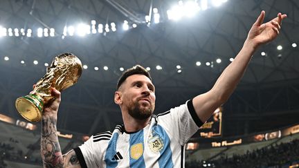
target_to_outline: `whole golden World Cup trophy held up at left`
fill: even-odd
[[[58,55],[53,59],[51,66],[41,80],[37,82],[29,95],[17,98],[15,106],[23,118],[30,122],[42,119],[44,104],[53,100],[51,87],[63,91],[78,82],[82,74],[82,63],[71,53]]]

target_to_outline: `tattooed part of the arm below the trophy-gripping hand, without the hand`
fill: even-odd
[[[56,122],[55,118],[42,119],[41,154],[44,167],[80,167],[75,151],[62,155]]]

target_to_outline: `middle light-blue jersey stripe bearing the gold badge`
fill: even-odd
[[[130,134],[129,136],[130,136],[129,137],[129,147],[130,147],[129,165],[130,167],[143,168],[145,167],[145,160],[143,158],[143,153],[144,153],[143,129],[141,131],[138,131],[137,133]],[[134,156],[139,156],[139,158],[134,158]]]

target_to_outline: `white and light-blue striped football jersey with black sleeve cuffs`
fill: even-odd
[[[113,132],[91,136],[75,148],[81,167],[184,167],[184,145],[203,122],[192,100],[153,115],[140,131],[127,132],[118,125]]]

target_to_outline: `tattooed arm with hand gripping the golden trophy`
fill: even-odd
[[[75,151],[71,150],[62,155],[57,136],[57,111],[60,105],[60,91],[52,88],[53,102],[44,107],[42,116],[41,154],[44,167],[80,168]]]

